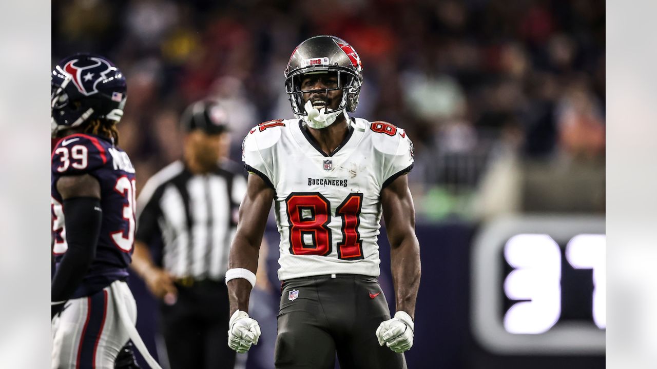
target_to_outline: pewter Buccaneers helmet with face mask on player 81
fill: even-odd
[[[292,112],[306,116],[301,79],[304,74],[337,72],[338,87],[328,90],[343,90],[342,102],[335,110],[354,112],[358,106],[358,95],[363,83],[363,64],[356,51],[343,39],[335,36],[315,36],[300,43],[294,49],[285,69],[285,92],[290,97]]]

